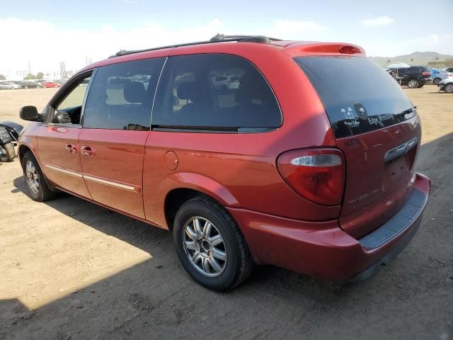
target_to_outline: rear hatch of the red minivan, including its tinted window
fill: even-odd
[[[340,227],[360,238],[406,203],[420,123],[396,81],[366,57],[295,57],[319,94],[345,156]]]

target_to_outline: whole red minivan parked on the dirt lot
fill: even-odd
[[[408,244],[430,193],[415,106],[350,44],[217,35],[121,51],[21,118],[35,122],[19,140],[34,200],[66,191],[172,230],[213,290],[254,263],[365,278]]]

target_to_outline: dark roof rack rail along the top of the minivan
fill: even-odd
[[[224,35],[224,34],[217,33],[217,35],[214,35],[214,37],[212,37],[210,40],[205,40],[205,41],[185,42],[183,44],[153,47],[153,48],[147,48],[144,50],[119,50],[118,52],[115,53],[115,55],[110,55],[109,58],[120,57],[122,55],[132,55],[134,53],[139,53],[139,52],[163,50],[164,48],[183,47],[183,46],[190,46],[190,45],[203,45],[203,44],[210,44],[212,42],[228,42],[228,41],[269,43],[271,41],[280,41],[280,39],[269,38],[264,35]]]

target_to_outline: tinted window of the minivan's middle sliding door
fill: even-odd
[[[83,127],[149,130],[151,106],[165,58],[134,60],[97,69],[84,108]]]

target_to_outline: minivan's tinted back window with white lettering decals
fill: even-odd
[[[415,115],[401,86],[364,57],[295,57],[319,94],[337,138],[385,128]]]

